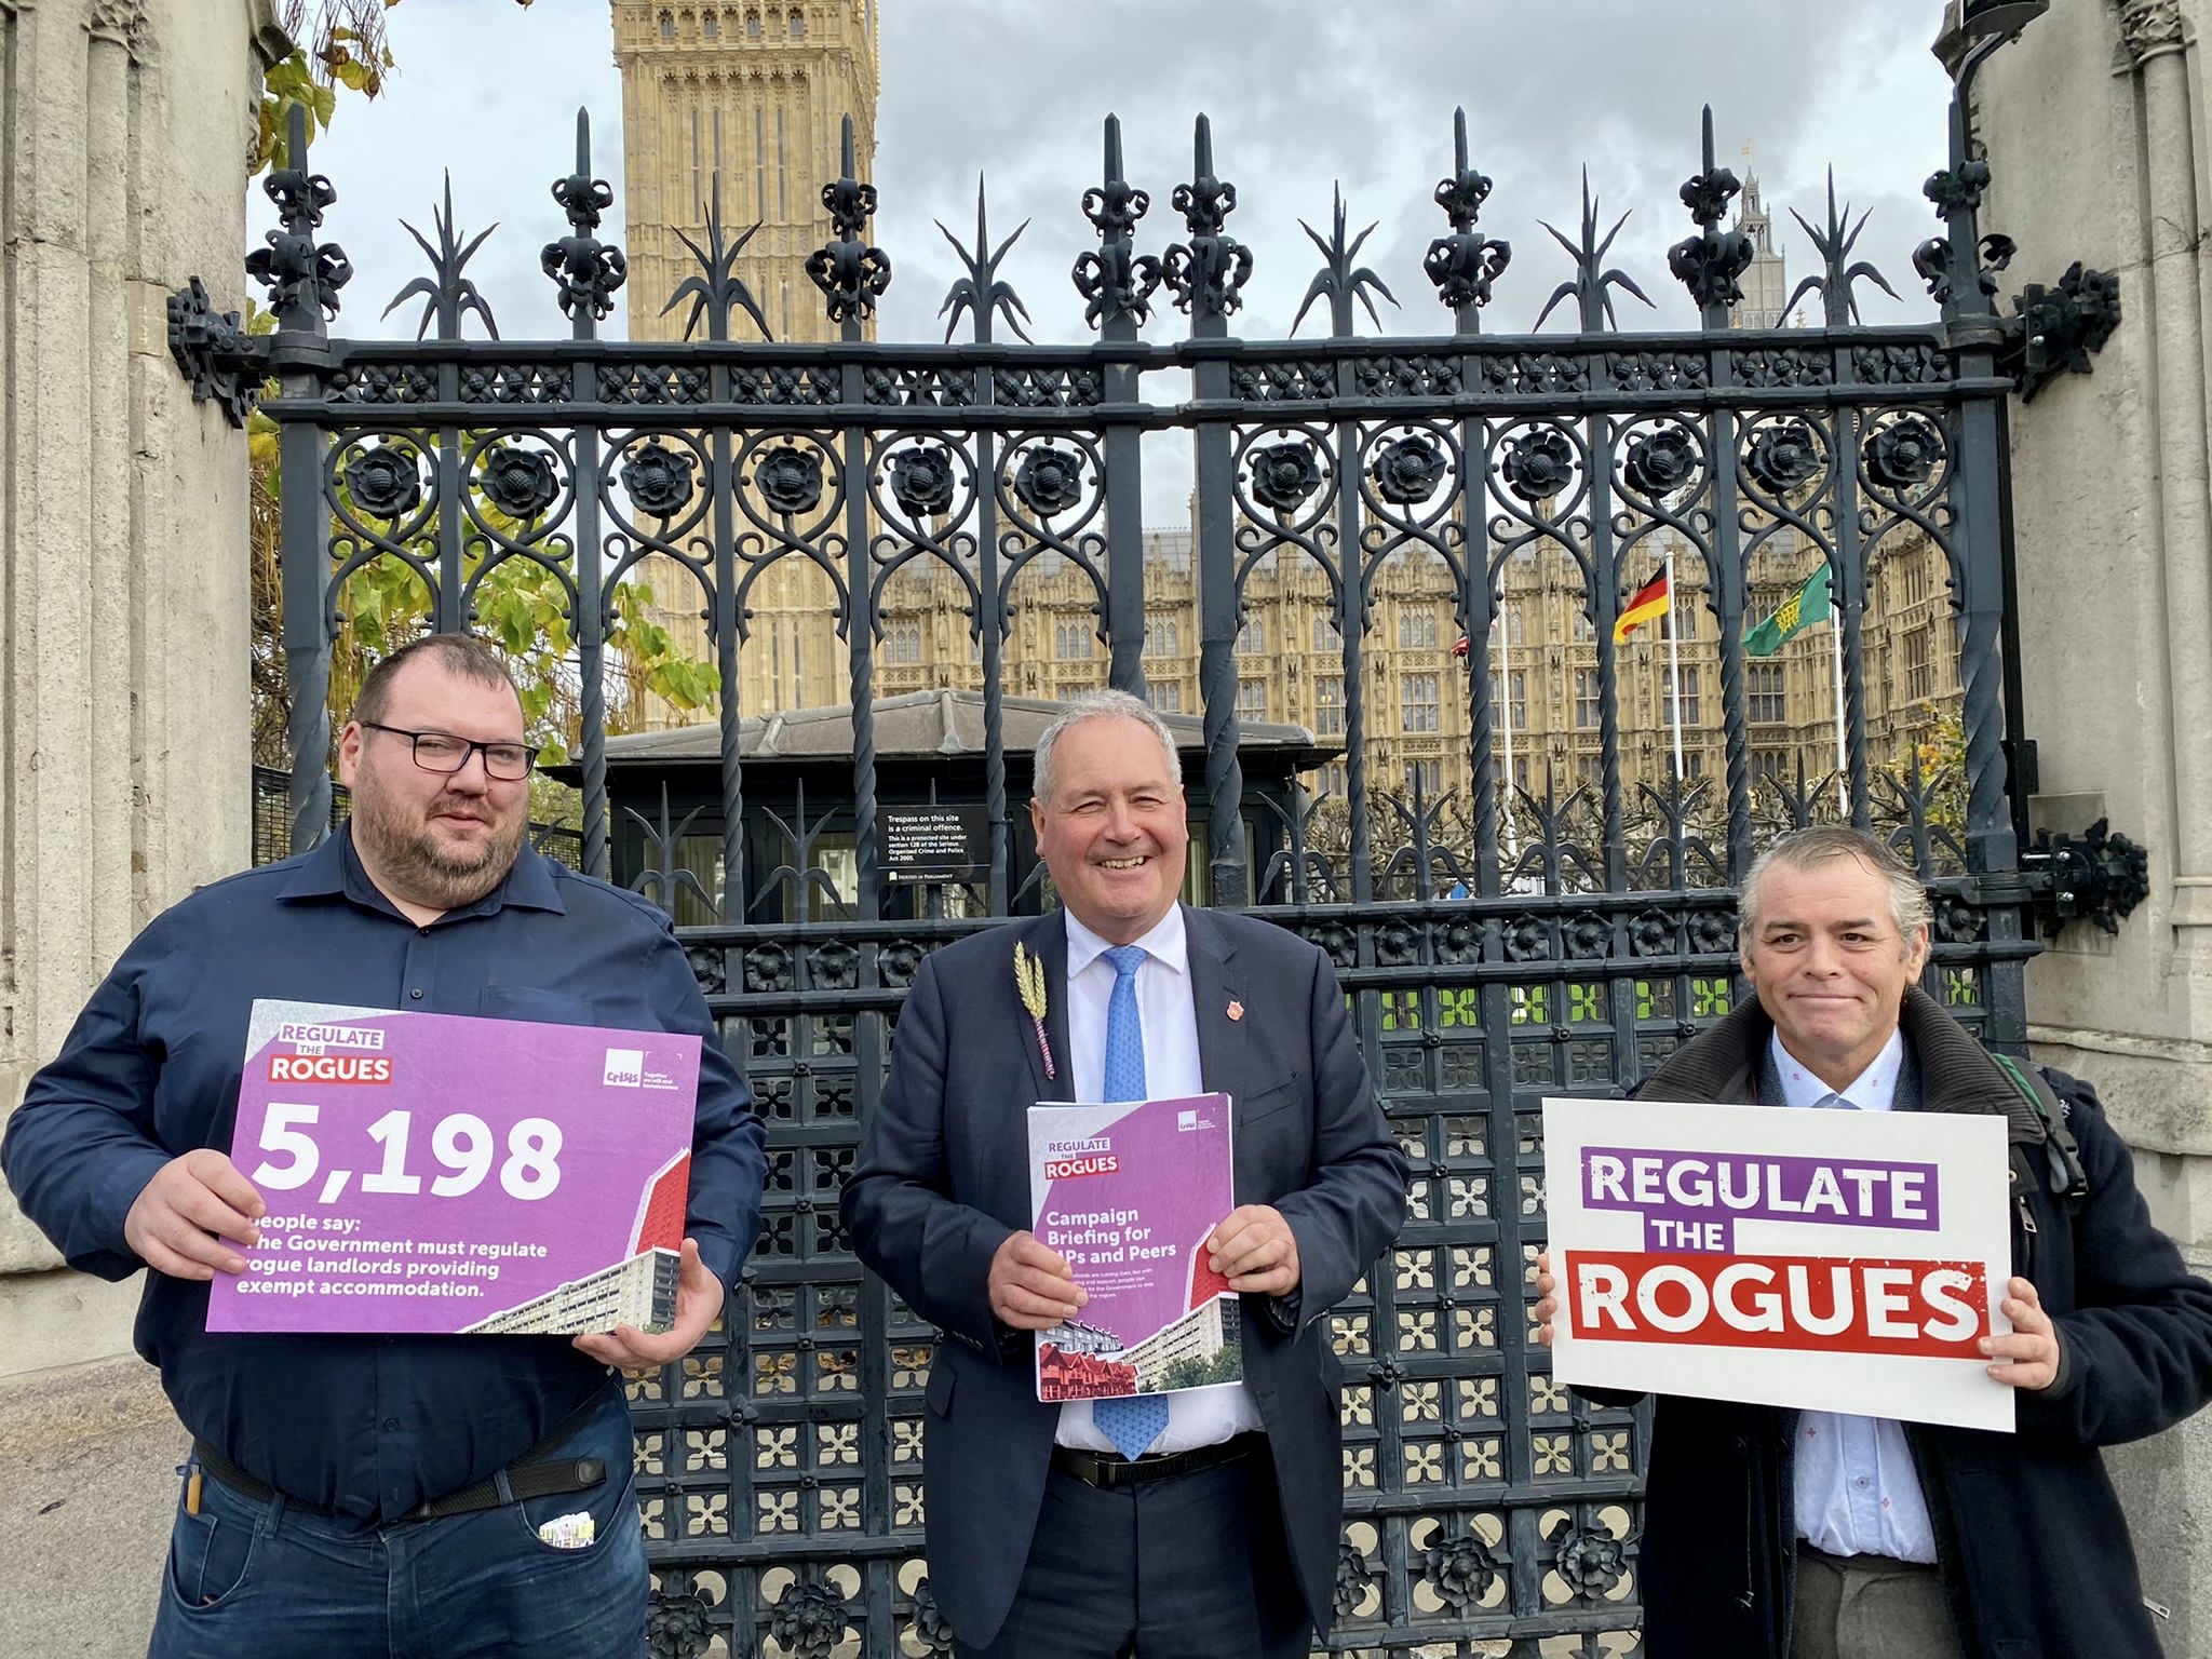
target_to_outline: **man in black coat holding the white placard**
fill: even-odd
[[[2154,1659],[2097,1449],[2170,1429],[2212,1394],[2212,1285],[2150,1223],[2088,1084],[2042,1073],[2039,1110],[2026,1073],[2015,1082],[1918,989],[1927,891],[1882,843],[1832,827],[1774,843],[1745,878],[1739,949],[1756,1002],[1639,1093],[2004,1117],[2013,1334],[1982,1349],[2020,1389],[2017,1431],[1659,1396],[1644,1652]],[[1546,1343],[1553,1290],[1540,1261]]]

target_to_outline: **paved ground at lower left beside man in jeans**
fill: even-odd
[[[179,1462],[144,1360],[0,1383],[0,1655],[146,1652]]]

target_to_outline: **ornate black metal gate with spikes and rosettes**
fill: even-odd
[[[1606,265],[1610,234],[1586,199],[1579,239],[1559,237],[1573,270],[1553,294],[1575,330],[1489,336],[1478,319],[1509,250],[1478,226],[1491,181],[1469,161],[1462,117],[1436,186],[1449,228],[1427,257],[1449,332],[1356,336],[1354,307],[1374,310],[1380,283],[1356,268],[1338,212],[1334,237],[1314,237],[1325,263],[1310,299],[1327,307],[1327,338],[1237,341],[1228,316],[1252,259],[1230,234],[1237,197],[1214,175],[1203,117],[1192,177],[1172,197],[1183,239],[1159,257],[1137,252],[1150,204],[1121,177],[1108,122],[1104,179],[1082,197],[1099,243],[1075,268],[1095,343],[993,341],[993,321],[1011,321],[1018,301],[998,276],[1006,250],[982,237],[947,301],[956,325],[971,316],[971,341],[863,341],[889,261],[865,241],[876,197],[847,161],[823,192],[836,239],[810,263],[843,343],[792,347],[728,338],[750,299],[719,221],[686,283],[706,338],[597,338],[624,263],[599,239],[613,192],[593,179],[582,131],[575,173],[555,186],[568,230],[544,250],[571,338],[460,338],[469,312],[487,332],[491,319],[462,274],[473,243],[449,217],[440,246],[422,243],[434,268],[411,290],[434,338],[330,338],[349,268],[316,234],[336,192],[310,170],[296,128],[292,159],[268,181],[283,230],[250,261],[279,330],[246,338],[197,281],[170,316],[179,363],[232,418],[263,378],[274,383],[261,409],[281,431],[285,480],[294,847],[330,823],[336,595],[369,560],[407,562],[438,628],[469,626],[502,564],[529,560],[560,577],[577,639],[582,849],[595,872],[611,869],[613,586],[646,555],[681,562],[726,688],[761,568],[814,560],[838,586],[854,714],[852,799],[838,807],[854,865],[834,894],[838,916],[807,920],[810,907],[792,905],[794,920],[759,920],[748,896],[805,887],[812,830],[792,821],[774,876],[757,854],[748,869],[737,739],[752,710],[734,695],[719,708],[721,891],[703,894],[719,920],[688,945],[770,1117],[774,1164],[765,1232],[726,1329],[635,1387],[659,1582],[653,1652],[947,1648],[920,1557],[931,1332],[863,1279],[836,1232],[836,1194],[918,960],[1035,902],[1002,703],[1024,571],[1057,560],[1077,573],[1095,593],[1110,684],[1144,690],[1139,467],[1141,438],[1157,431],[1188,434],[1197,460],[1206,765],[1190,794],[1208,825],[1210,894],[1252,902],[1336,960],[1413,1166],[1405,1237],[1336,1312],[1352,1380],[1336,1646],[1628,1650],[1644,1425],[1571,1402],[1531,1340],[1528,1272],[1544,1237],[1537,1104],[1621,1086],[1723,1013],[1736,989],[1734,876],[1765,830],[1838,810],[1818,781],[1754,774],[1747,571],[1776,538],[1832,573],[1847,812],[1893,830],[1938,891],[1931,984],[1993,1042],[2024,1035],[2033,878],[2006,794],[2000,520],[2002,414],[2020,365],[2000,358],[2026,347],[1982,281],[1989,250],[1973,208],[1986,168],[1953,159],[1931,181],[1949,237],[1916,263],[1942,323],[1856,325],[1851,288],[1869,268],[1851,263],[1856,232],[1832,206],[1814,230],[1825,270],[1805,285],[1825,325],[1730,330],[1752,250],[1723,223],[1739,184],[1712,161],[1708,115],[1703,166],[1681,192],[1694,228],[1672,250],[1701,330],[1615,330],[1615,294],[1637,290]],[[1190,316],[1175,345],[1139,341],[1161,296]],[[2073,296],[2110,303],[2081,283]],[[1150,396],[1161,372],[1188,372],[1190,396]],[[1624,761],[1615,619],[1657,538],[1672,538],[1719,630],[1725,765],[1710,779],[1652,783]],[[1869,741],[1860,619],[1869,566],[1898,538],[1940,549],[1951,584],[1964,688],[1964,807],[1951,818],[1931,810],[1936,779],[1885,772]],[[1582,781],[1537,774],[1506,792],[1495,750],[1513,692],[1502,710],[1493,619],[1515,560],[1537,557],[1579,573],[1595,765]],[[909,562],[960,584],[980,657],[980,918],[938,907],[896,918],[883,880],[872,688],[885,582]],[[1241,608],[1261,573],[1290,566],[1318,573],[1343,677],[1340,836],[1323,834],[1310,796],[1281,823],[1245,803]],[[1455,803],[1418,776],[1400,796],[1369,763],[1380,721],[1363,650],[1376,584],[1409,566],[1405,580],[1431,584],[1467,644],[1462,675],[1447,675],[1471,745],[1473,783]],[[1447,655],[1447,668],[1458,664]],[[1679,712],[1679,681],[1672,695]],[[657,852],[655,867],[670,869],[670,847]]]

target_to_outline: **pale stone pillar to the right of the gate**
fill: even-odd
[[[2150,852],[2117,938],[2028,964],[2037,1060],[2097,1084],[2159,1225],[2212,1270],[2212,500],[2199,252],[2203,0],[2053,4],[1975,84],[2008,283],[2073,261],[2121,281],[2088,376],[2013,405],[2013,531],[2031,823],[2097,816]],[[2006,310],[2011,310],[2006,305]],[[2106,1455],[2174,1659],[2212,1659],[2212,1418]],[[2201,1588],[2199,1588],[2201,1586]]]

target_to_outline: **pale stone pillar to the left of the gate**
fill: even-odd
[[[0,0],[0,1113],[164,905],[248,860],[246,442],[166,303],[243,294],[270,0]],[[0,1376],[128,1347],[135,1285],[0,1192]]]

